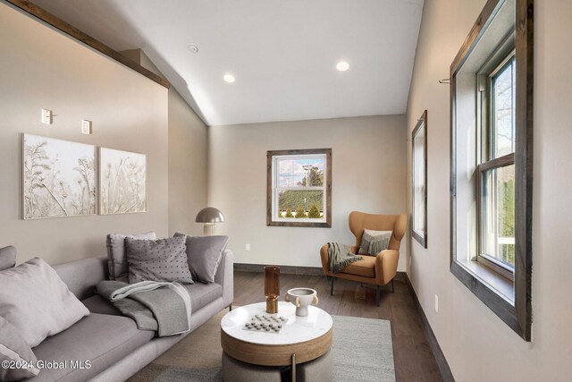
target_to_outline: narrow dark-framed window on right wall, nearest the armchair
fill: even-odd
[[[413,216],[411,234],[427,248],[427,111],[411,133],[413,141]]]

